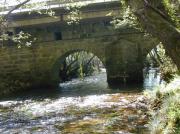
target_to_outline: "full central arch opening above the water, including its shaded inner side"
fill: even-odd
[[[103,61],[85,50],[66,52],[56,61],[53,71],[56,84],[106,73]]]

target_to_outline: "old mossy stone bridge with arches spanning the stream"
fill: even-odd
[[[0,93],[58,86],[61,62],[76,51],[91,52],[103,62],[110,86],[123,83],[124,76],[127,83],[142,82],[144,59],[158,41],[127,26],[115,30],[110,21],[118,14],[119,5],[104,4],[92,4],[88,12],[84,9],[82,14],[86,17],[75,25],[67,25],[64,20],[52,21],[47,16],[37,19],[36,13],[28,17],[26,12],[13,14],[9,33],[22,30],[37,41],[22,48],[8,42],[9,47],[0,49]],[[110,9],[114,14],[106,16]]]

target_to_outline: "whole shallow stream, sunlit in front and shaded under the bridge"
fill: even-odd
[[[0,101],[0,133],[148,134],[148,100],[142,91],[154,84],[159,78],[152,71],[144,86],[110,89],[101,73],[59,89],[16,93]]]

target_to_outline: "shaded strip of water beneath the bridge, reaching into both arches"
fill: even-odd
[[[144,83],[142,85],[122,85],[116,89],[111,89],[107,84],[106,72],[95,76],[85,77],[83,80],[73,79],[65,83],[61,83],[58,89],[33,89],[29,91],[21,91],[16,94],[9,95],[1,100],[42,100],[57,99],[59,97],[87,96],[112,94],[123,92],[141,92],[144,89],[152,90],[155,86],[163,84],[160,73],[157,68],[144,69]]]

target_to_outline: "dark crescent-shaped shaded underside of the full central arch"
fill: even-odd
[[[93,54],[94,56],[96,56],[102,62],[103,66],[106,68],[105,61],[102,60],[101,58],[99,58],[99,56],[97,56],[96,54],[94,54],[91,51],[84,50],[84,49],[69,50],[69,51],[65,52],[64,54],[60,55],[55,60],[55,63],[52,66],[52,69],[51,69],[52,86],[54,86],[54,87],[59,86],[59,83],[60,83],[60,76],[59,76],[60,66],[62,65],[62,63],[63,63],[63,61],[65,60],[66,57],[68,57],[69,55],[71,55],[73,53],[76,53],[76,52],[87,52],[87,53]]]

